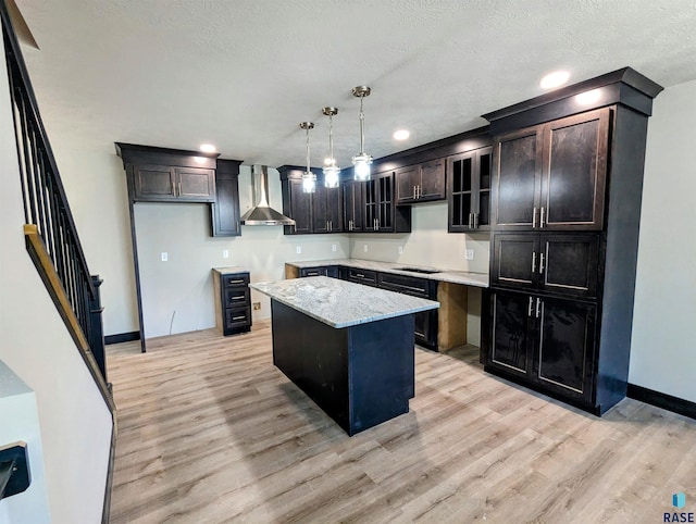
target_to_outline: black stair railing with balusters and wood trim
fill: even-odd
[[[102,395],[107,388],[98,276],[87,267],[77,228],[4,2],[0,2],[27,250]],[[94,278],[94,282],[92,282]]]

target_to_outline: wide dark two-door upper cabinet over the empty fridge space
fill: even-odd
[[[132,202],[214,202],[215,155],[116,144]]]

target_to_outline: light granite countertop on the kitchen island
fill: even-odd
[[[439,302],[326,276],[251,284],[251,288],[335,328],[439,308]]]

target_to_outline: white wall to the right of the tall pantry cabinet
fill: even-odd
[[[696,80],[655,100],[631,342],[631,384],[696,402]]]

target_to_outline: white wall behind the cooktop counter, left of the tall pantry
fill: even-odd
[[[448,234],[447,202],[413,205],[411,220],[410,234],[351,235],[351,258],[488,273],[488,234]],[[468,249],[474,251],[473,260],[465,260]],[[481,289],[476,287],[469,287],[467,341],[481,346]]]

